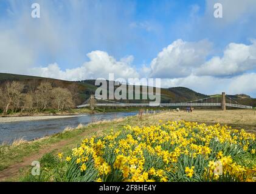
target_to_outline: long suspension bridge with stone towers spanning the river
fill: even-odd
[[[222,96],[210,96],[207,98],[196,99],[194,101],[187,102],[177,102],[177,103],[125,103],[120,101],[102,99],[97,96],[91,95],[83,104],[78,105],[77,108],[83,107],[195,107],[195,106],[204,106],[204,107],[222,107],[223,110],[226,110],[226,107],[235,107],[240,109],[252,109],[252,106],[243,105],[234,99],[226,96],[223,92]]]

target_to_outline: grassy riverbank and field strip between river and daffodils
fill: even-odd
[[[73,147],[77,147],[85,137],[89,138],[92,135],[100,136],[109,129],[120,130],[127,124],[131,126],[139,125],[140,127],[154,125],[157,124],[159,119],[162,121],[197,121],[209,124],[220,122],[221,124],[237,125],[253,133],[255,133],[254,126],[256,125],[256,115],[254,115],[252,110],[228,110],[226,112],[195,110],[193,113],[163,112],[156,115],[144,115],[142,119],[138,116],[130,116],[113,121],[98,121],[83,127],[80,126],[78,129],[57,133],[35,141],[0,146],[0,175],[2,170],[7,169],[13,164],[26,161],[30,156],[38,155],[36,159],[39,159],[44,153],[68,153]],[[39,153],[42,154],[40,155]],[[26,172],[26,169],[28,168],[21,169],[19,174],[22,175],[22,173]],[[20,179],[20,175],[10,180],[17,181]]]

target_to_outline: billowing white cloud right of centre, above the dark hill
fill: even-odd
[[[150,64],[151,77],[180,78],[189,76],[209,55],[212,44],[207,40],[185,42],[178,39],[164,48]]]

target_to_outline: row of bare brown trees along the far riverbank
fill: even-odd
[[[9,112],[71,109],[75,107],[77,90],[75,85],[64,88],[51,82],[25,85],[18,81],[7,81],[0,87],[0,96],[0,109],[6,115]]]

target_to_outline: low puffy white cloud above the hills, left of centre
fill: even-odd
[[[133,56],[128,56],[117,61],[108,53],[95,50],[87,54],[89,61],[75,69],[61,70],[57,63],[47,67],[35,67],[29,70],[30,75],[47,78],[65,79],[71,81],[95,78],[109,78],[109,73],[114,73],[115,78],[136,78],[139,74],[131,67]]]

